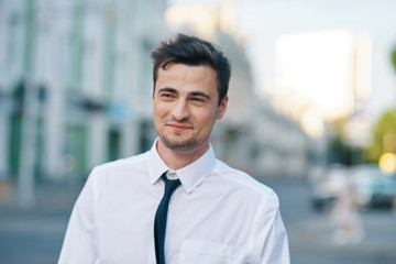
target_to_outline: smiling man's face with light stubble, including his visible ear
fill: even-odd
[[[211,130],[228,98],[218,106],[217,74],[210,66],[170,64],[160,67],[153,95],[154,124],[173,151],[208,147]]]

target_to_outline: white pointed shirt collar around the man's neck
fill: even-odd
[[[164,172],[170,169],[161,158],[156,150],[157,141],[158,139],[155,140],[150,151],[148,174],[150,174],[151,184],[157,182]],[[180,179],[183,188],[187,193],[191,193],[196,187],[198,187],[204,182],[206,177],[209,176],[215,165],[216,165],[215,152],[211,145],[209,145],[209,150],[201,157],[199,157],[194,163],[187,165],[186,167],[183,167],[175,172],[178,178]]]

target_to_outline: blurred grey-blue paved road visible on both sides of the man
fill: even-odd
[[[358,244],[339,245],[329,213],[309,207],[304,182],[266,182],[279,196],[294,264],[396,263],[396,216],[388,211],[364,212],[365,237]],[[50,188],[37,193],[37,206],[20,210],[0,202],[0,263],[56,263],[78,188]]]

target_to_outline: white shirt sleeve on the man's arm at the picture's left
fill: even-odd
[[[94,263],[97,258],[95,246],[94,177],[95,170],[89,175],[73,208],[58,264]]]

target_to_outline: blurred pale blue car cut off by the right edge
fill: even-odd
[[[353,197],[360,209],[396,207],[396,175],[384,174],[377,165],[353,169]]]

